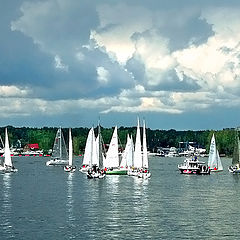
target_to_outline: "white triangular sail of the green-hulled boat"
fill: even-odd
[[[117,127],[114,129],[107,155],[103,162],[103,166],[106,168],[119,167]]]

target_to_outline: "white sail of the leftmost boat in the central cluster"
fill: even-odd
[[[94,135],[93,127],[88,132],[88,137],[85,145],[84,157],[83,157],[83,165],[89,165],[92,167],[93,164],[96,164],[97,160],[97,148],[96,148],[96,140]]]

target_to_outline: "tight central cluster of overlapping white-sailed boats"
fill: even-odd
[[[143,126],[143,145],[140,139],[140,124],[138,120],[136,144],[134,149],[132,136],[127,136],[125,150],[119,156],[117,126],[114,128],[108,150],[103,152],[100,126],[98,137],[95,138],[94,129],[88,133],[83,164],[79,171],[86,173],[88,178],[103,178],[105,175],[129,175],[139,178],[150,178],[148,169],[148,155],[145,122]],[[142,150],[143,149],[143,150]]]

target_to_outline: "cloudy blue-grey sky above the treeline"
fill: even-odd
[[[239,0],[0,0],[0,125],[239,126]]]

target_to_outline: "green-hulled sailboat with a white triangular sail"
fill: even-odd
[[[106,170],[106,174],[127,175],[127,169],[121,169],[119,167],[117,126],[114,128],[112,139],[107,151],[106,158],[104,159],[103,166]]]

